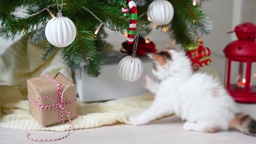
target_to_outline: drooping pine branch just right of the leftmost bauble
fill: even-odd
[[[64,48],[64,59],[69,61],[72,69],[82,68],[88,75],[96,77],[100,74],[100,50],[96,48],[96,36],[90,29],[91,24],[77,21],[77,36],[72,45]],[[94,27],[94,26],[93,26]]]

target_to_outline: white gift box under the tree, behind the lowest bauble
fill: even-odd
[[[105,101],[147,92],[142,85],[142,77],[134,82],[120,78],[117,65],[123,57],[120,53],[116,54],[115,52],[105,57],[99,77],[89,77],[81,70],[75,72],[77,93],[81,101]],[[143,75],[153,77],[152,60],[148,57],[140,57],[140,59],[144,67]]]

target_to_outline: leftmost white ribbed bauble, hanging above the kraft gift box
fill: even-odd
[[[77,34],[75,24],[69,18],[58,13],[56,18],[48,21],[45,27],[45,36],[52,45],[63,48],[70,45]]]

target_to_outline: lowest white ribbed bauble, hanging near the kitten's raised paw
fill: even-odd
[[[125,56],[118,64],[118,73],[123,80],[135,81],[141,77],[143,64],[141,60],[133,56]]]

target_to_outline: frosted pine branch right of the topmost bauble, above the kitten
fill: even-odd
[[[195,41],[195,36],[208,35],[212,30],[211,21],[205,16],[199,5],[191,0],[169,0],[174,8],[173,19],[168,34],[181,45]]]

